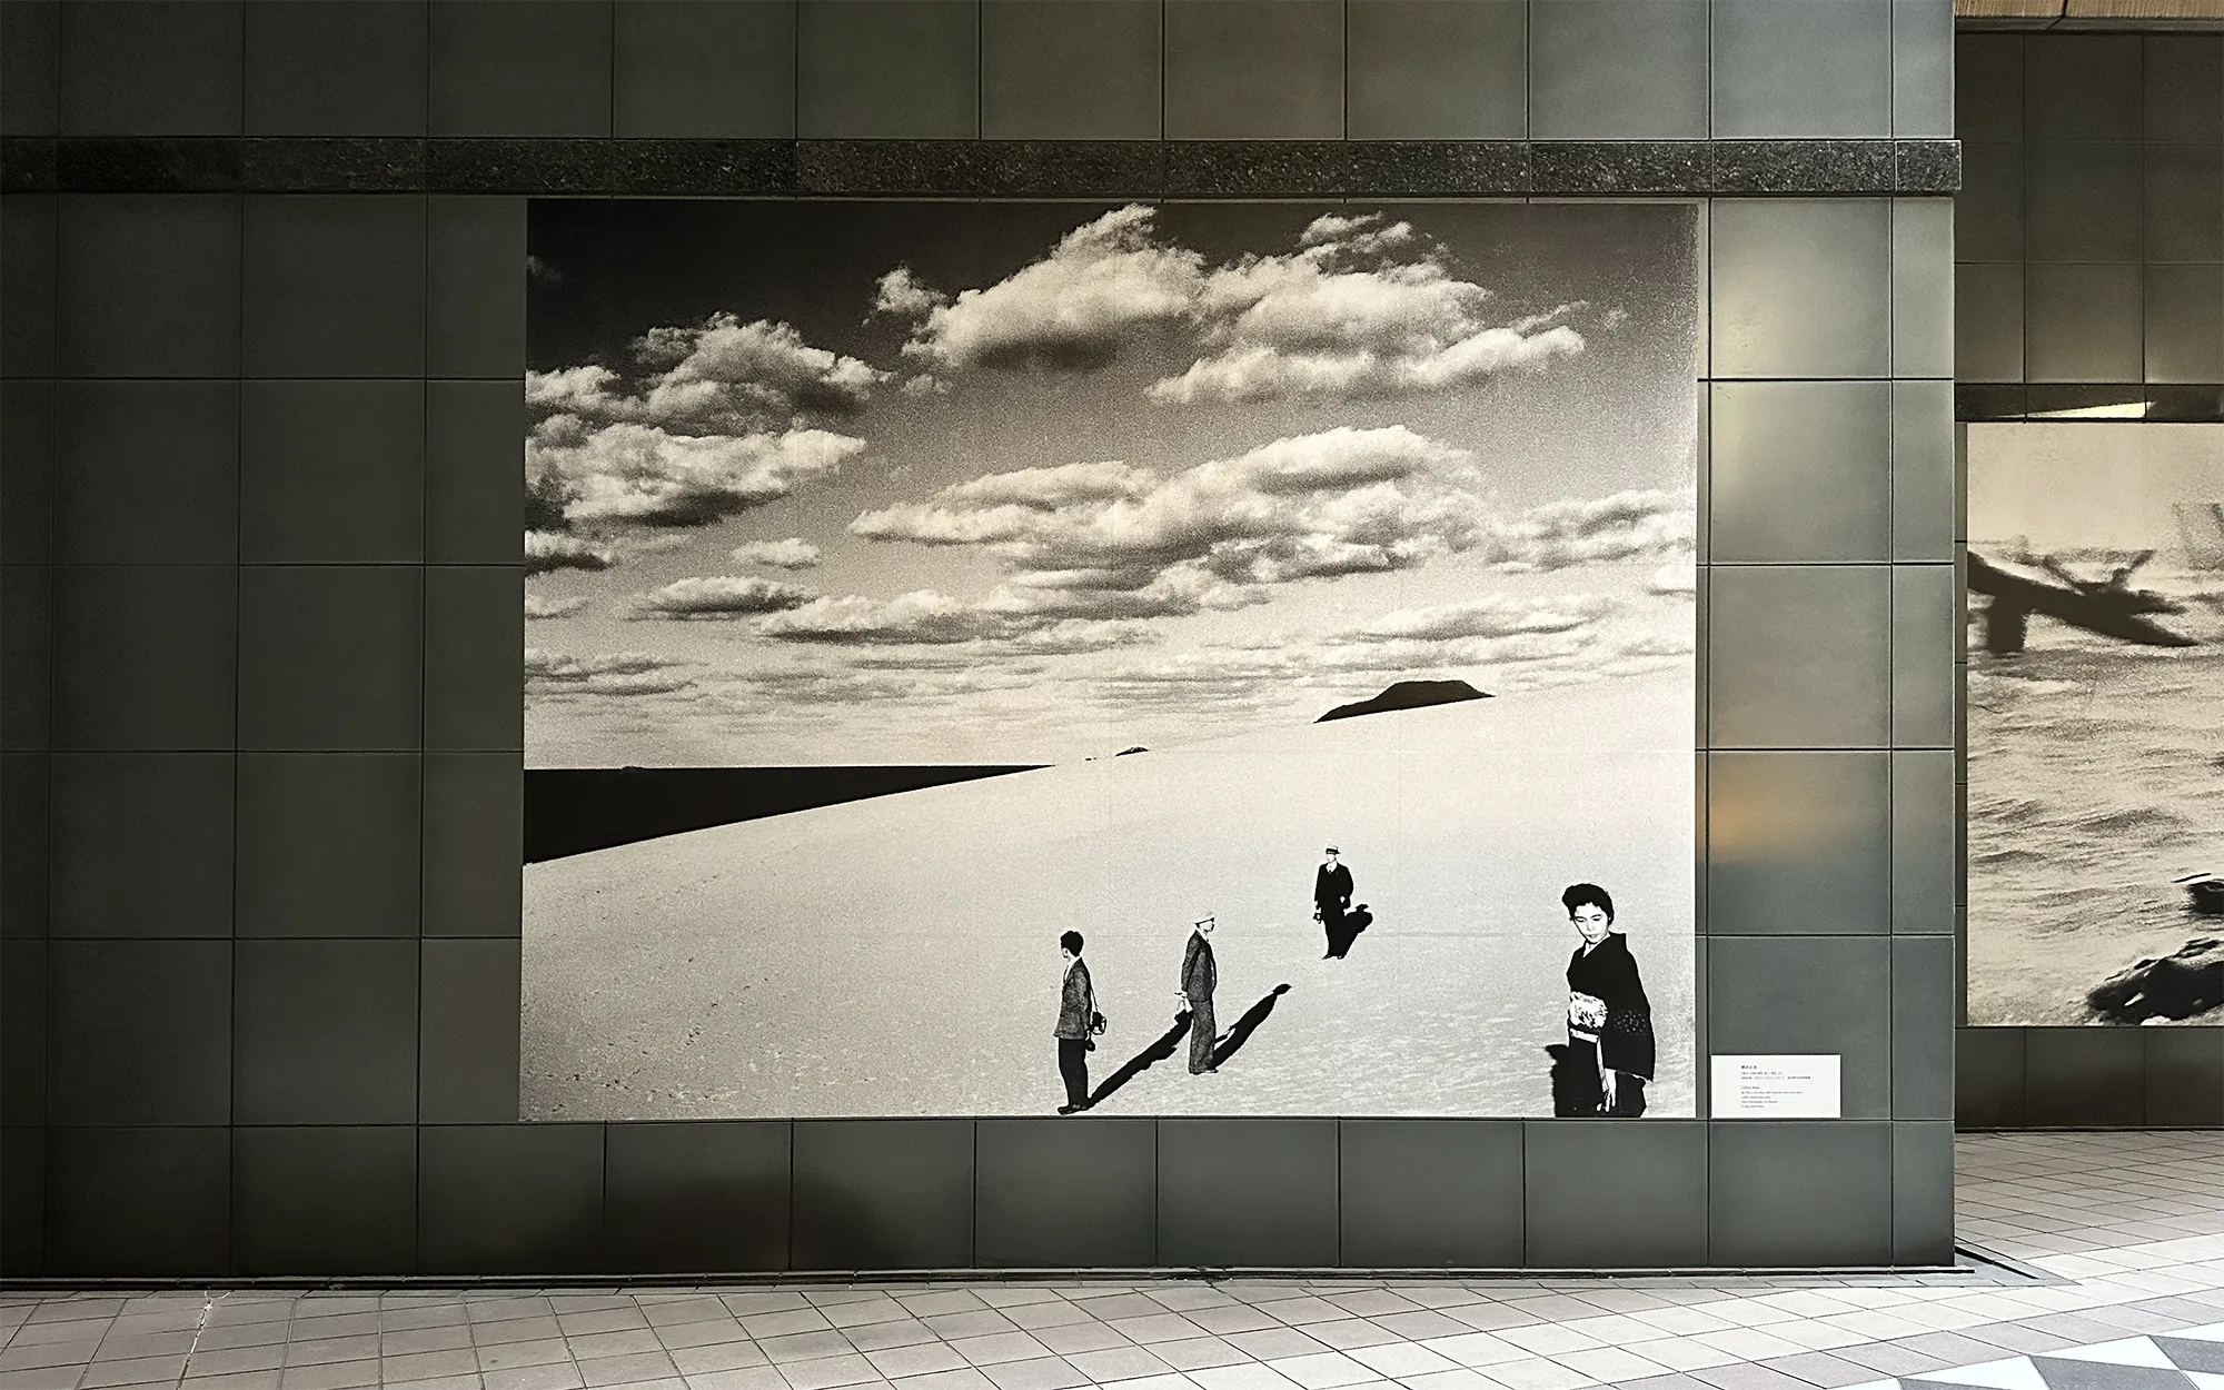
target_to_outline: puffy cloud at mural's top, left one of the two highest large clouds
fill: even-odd
[[[934,371],[1092,371],[1136,329],[1192,311],[1203,256],[1159,245],[1152,218],[1143,205],[1108,211],[1068,231],[1043,260],[956,298],[898,267],[881,278],[878,307],[919,320],[903,351]]]

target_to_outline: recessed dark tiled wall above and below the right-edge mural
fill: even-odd
[[[2224,36],[1970,33],[1962,416],[2224,416]],[[2224,1030],[1964,1027],[1964,1125],[2217,1125]]]

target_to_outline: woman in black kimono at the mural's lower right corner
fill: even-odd
[[[1555,1112],[1639,1116],[1652,1081],[1652,1003],[1637,956],[1615,932],[1615,898],[1604,887],[1577,883],[1559,901],[1583,945],[1568,956],[1566,1085],[1555,1088]]]

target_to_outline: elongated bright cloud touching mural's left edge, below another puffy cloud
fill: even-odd
[[[534,429],[525,469],[536,489],[560,494],[572,523],[698,527],[783,498],[863,449],[827,429],[692,436],[567,414]]]

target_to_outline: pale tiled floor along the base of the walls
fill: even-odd
[[[1959,1168],[2039,1277],[0,1294],[0,1390],[2224,1390],[2224,1134]]]

